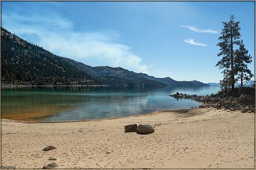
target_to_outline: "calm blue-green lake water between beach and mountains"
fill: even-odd
[[[2,89],[2,118],[66,122],[181,109],[201,103],[169,94],[207,95],[220,87],[30,87]]]

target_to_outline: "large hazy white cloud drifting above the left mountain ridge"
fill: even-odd
[[[56,55],[85,64],[121,66],[144,73],[150,67],[142,64],[141,57],[132,53],[128,45],[116,42],[116,33],[74,31],[69,19],[54,13],[40,16],[7,13],[2,15],[2,23],[10,32],[32,37],[33,43]]]

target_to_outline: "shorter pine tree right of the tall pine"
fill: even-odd
[[[252,62],[251,56],[248,54],[248,50],[245,49],[243,40],[239,45],[239,50],[235,51],[234,62],[235,75],[238,75],[237,80],[241,80],[241,87],[243,87],[243,80],[249,81],[253,77],[251,70],[247,67],[247,64]]]

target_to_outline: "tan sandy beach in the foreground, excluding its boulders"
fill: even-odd
[[[128,124],[150,124],[155,132],[124,133]],[[57,149],[42,151],[46,145]],[[254,169],[254,113],[209,108],[73,123],[2,119],[2,165],[52,162],[58,168]]]

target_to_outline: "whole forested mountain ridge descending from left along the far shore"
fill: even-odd
[[[122,67],[89,66],[60,57],[6,29],[2,33],[2,83],[14,85],[209,86],[199,81],[155,78]]]

